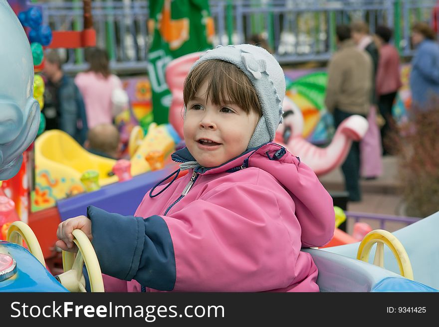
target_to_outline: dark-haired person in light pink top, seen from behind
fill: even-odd
[[[78,73],[75,84],[84,98],[88,128],[113,122],[112,95],[122,88],[122,82],[111,74],[108,55],[105,50],[94,48],[89,53],[89,69]]]

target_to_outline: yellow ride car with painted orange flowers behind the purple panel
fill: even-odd
[[[158,164],[163,168],[180,138],[169,124],[153,123],[146,135],[142,131],[131,141],[133,155],[130,158],[130,175],[136,176],[157,169],[157,162],[151,169],[146,160],[150,153],[160,153]],[[53,207],[57,200],[118,182],[119,177],[113,171],[116,163],[114,159],[88,152],[61,130],[45,131],[35,141],[32,212]],[[95,180],[81,180],[85,172]]]

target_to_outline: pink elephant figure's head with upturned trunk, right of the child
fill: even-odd
[[[297,105],[285,97],[282,107],[284,119],[276,130],[274,141],[298,156],[317,176],[327,174],[343,164],[352,141],[360,141],[369,126],[366,118],[350,116],[338,126],[331,143],[322,148],[303,138],[303,116]]]

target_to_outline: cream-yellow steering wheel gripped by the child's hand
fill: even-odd
[[[78,247],[78,252],[62,251],[64,272],[56,278],[70,292],[86,292],[85,278],[82,272],[85,263],[91,291],[104,292],[101,267],[90,240],[80,229],[73,230],[73,236],[73,242]]]

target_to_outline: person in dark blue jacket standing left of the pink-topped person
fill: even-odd
[[[83,145],[88,127],[82,95],[73,79],[62,71],[56,50],[50,50],[44,58],[42,75],[46,85],[41,111],[46,119],[45,129],[60,129]]]

